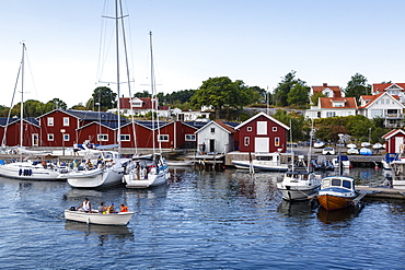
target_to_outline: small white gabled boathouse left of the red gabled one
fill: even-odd
[[[196,131],[197,144],[200,152],[206,153],[228,153],[234,150],[234,134],[233,129],[238,126],[235,122],[210,121],[202,128]]]

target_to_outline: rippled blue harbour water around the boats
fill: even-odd
[[[381,171],[351,171],[361,184]],[[172,171],[151,190],[72,189],[0,178],[2,269],[404,269],[405,201],[356,211],[287,203],[277,173]],[[88,197],[124,202],[128,226],[86,225],[62,211]]]

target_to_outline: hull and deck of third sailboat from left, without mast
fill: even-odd
[[[169,178],[165,159],[155,154],[150,160],[132,160],[127,165],[123,181],[127,188],[149,188],[163,185]]]

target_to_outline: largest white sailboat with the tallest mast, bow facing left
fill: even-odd
[[[118,7],[118,1],[115,0],[115,17],[106,17],[115,20],[116,85],[117,96],[119,97],[119,20],[124,20],[125,16],[119,14],[118,11],[121,12],[123,9]],[[119,102],[117,106],[119,113]],[[128,160],[120,159],[120,116],[118,115],[117,145],[113,145],[118,146],[118,151],[85,149],[84,162],[66,175],[70,186],[76,188],[105,188],[121,184],[124,165]]]

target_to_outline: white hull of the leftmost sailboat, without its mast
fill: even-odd
[[[0,165],[0,175],[21,180],[66,180],[57,169],[32,166],[26,162]]]

